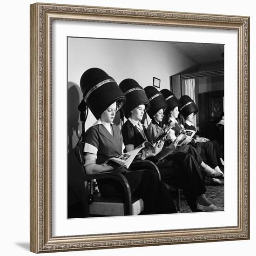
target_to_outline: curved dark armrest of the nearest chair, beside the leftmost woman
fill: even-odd
[[[124,175],[121,173],[115,173],[115,170],[111,172],[102,172],[97,174],[85,174],[85,180],[94,179],[114,179],[120,182],[124,192],[124,215],[132,215],[132,195],[129,183]]]

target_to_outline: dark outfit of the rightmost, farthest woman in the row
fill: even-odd
[[[184,124],[184,128],[194,131],[196,130],[195,126],[188,125],[186,122]],[[199,131],[196,132],[194,139],[196,139],[196,135],[200,135]],[[196,148],[201,157],[206,160],[205,162],[207,162],[211,168],[222,166],[220,158],[223,157],[223,153],[217,141],[196,142],[192,145]]]

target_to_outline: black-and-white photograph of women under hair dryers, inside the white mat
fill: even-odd
[[[67,37],[67,217],[224,211],[225,93],[224,44]]]

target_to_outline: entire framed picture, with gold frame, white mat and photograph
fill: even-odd
[[[32,252],[249,239],[238,15],[30,6]]]

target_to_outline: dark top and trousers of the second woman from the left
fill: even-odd
[[[145,127],[143,129],[146,135]],[[122,135],[124,145],[132,144],[137,147],[145,141],[144,136],[141,135],[139,129],[130,120],[123,125]],[[169,155],[168,159],[156,162],[156,164],[161,173],[162,181],[182,188],[190,209],[194,212],[197,211],[197,197],[204,194],[206,189],[202,182],[199,166],[193,156],[188,153],[178,152]]]

